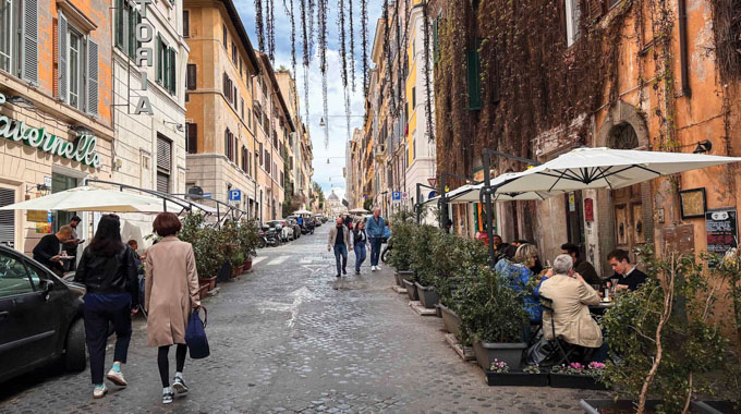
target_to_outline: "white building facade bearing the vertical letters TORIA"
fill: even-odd
[[[190,27],[181,1],[130,3],[113,10],[113,146],[111,181],[165,194],[186,192],[185,74]],[[139,41],[135,27],[146,22],[150,36]],[[141,36],[139,36],[141,37]],[[136,60],[148,48],[150,61]],[[146,247],[151,216],[122,216],[125,240]]]

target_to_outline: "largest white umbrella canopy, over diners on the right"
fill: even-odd
[[[497,178],[491,184],[497,185],[497,194],[622,188],[663,175],[739,161],[741,158],[697,154],[578,148],[495,184]]]

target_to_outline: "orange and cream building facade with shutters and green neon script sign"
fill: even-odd
[[[0,7],[0,205],[110,179],[113,63],[109,4],[8,0]],[[102,16],[102,19],[101,19]],[[29,253],[72,212],[1,211],[0,243]],[[81,234],[92,215],[81,214]]]

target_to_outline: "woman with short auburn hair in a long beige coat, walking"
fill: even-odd
[[[190,243],[178,240],[181,223],[172,212],[160,212],[154,222],[155,233],[163,239],[147,251],[145,306],[149,314],[149,346],[158,346],[157,365],[162,380],[162,403],[172,402],[174,392],[185,393],[185,329],[191,312],[201,307],[198,272]],[[170,387],[170,346],[175,352],[175,379]]]

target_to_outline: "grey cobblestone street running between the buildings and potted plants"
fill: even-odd
[[[156,351],[137,319],[123,373],[93,400],[89,372],[26,375],[0,390],[0,413],[570,413],[594,391],[488,387],[445,343],[441,319],[394,293],[391,269],[337,282],[329,226],[278,248],[204,302],[211,356],[186,360],[191,391],[162,405]],[[337,283],[337,284],[336,284]],[[335,287],[339,289],[333,289]],[[112,357],[109,344],[106,365]],[[174,356],[171,355],[171,369]],[[606,395],[606,394],[603,394]]]

